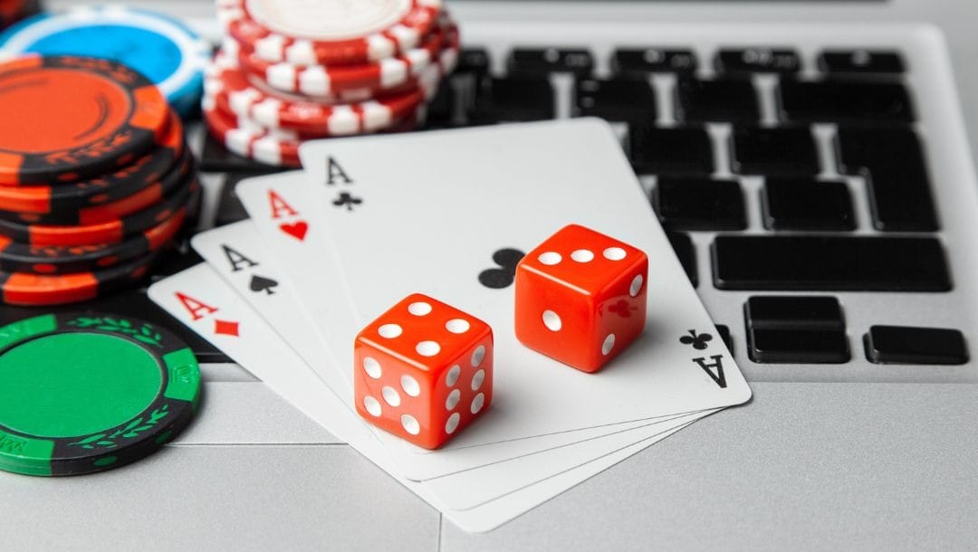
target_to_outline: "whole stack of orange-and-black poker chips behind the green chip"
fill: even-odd
[[[139,282],[193,218],[180,118],[109,60],[0,64],[0,299],[56,305]]]

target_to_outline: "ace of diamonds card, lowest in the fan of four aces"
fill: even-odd
[[[215,235],[227,234],[227,230],[242,232],[239,227]],[[246,292],[256,293],[249,286]],[[647,443],[664,439],[694,419],[694,416],[680,416],[668,424],[653,424],[654,429],[638,428],[632,432],[635,437],[622,436],[600,444],[592,441],[582,451],[587,455],[586,460],[556,449],[494,464],[487,469],[485,477],[466,475],[446,477],[433,484],[414,483],[396,475],[389,456],[368,427],[289,348],[280,329],[273,328],[240,300],[240,293],[241,289],[236,293],[204,264],[156,282],[149,291],[156,304],[173,317],[261,378],[313,420],[355,446],[466,531],[494,529],[598,473],[613,458],[634,451],[635,439]],[[491,485],[492,481],[500,481],[501,485]]]

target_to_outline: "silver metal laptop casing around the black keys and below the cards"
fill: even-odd
[[[207,0],[133,4],[170,12],[211,36],[216,33]],[[965,131],[978,137],[978,5],[973,0],[451,5],[466,36],[498,52],[511,44],[559,39],[595,45],[603,56],[622,36],[645,44],[685,39],[702,48],[726,37],[750,36],[750,44],[767,45],[784,35],[782,23],[788,22],[821,28],[821,34],[799,37],[810,48],[831,45],[833,37],[852,37],[854,24],[865,25],[867,40],[910,48],[914,70],[940,77],[936,84],[914,81],[913,87],[918,106],[932,103],[924,109],[922,125],[929,156],[933,161],[936,155],[945,167],[935,179],[940,209],[945,220],[950,215],[954,221],[942,237],[953,249],[956,282],[967,285],[961,294],[937,298],[842,294],[851,346],[855,356],[862,354],[859,337],[869,323],[946,321],[969,330],[975,353],[978,293],[970,280],[978,280],[973,237],[978,235],[973,223],[978,205],[975,190],[954,188],[974,184],[971,167],[978,157],[978,148],[965,138]],[[714,37],[704,38],[703,25],[710,22],[723,24],[715,27]],[[881,29],[884,22],[911,26]],[[945,66],[949,55],[953,74]],[[496,61],[501,62],[499,56]],[[952,120],[957,109],[960,114]],[[753,185],[745,186],[750,190]],[[180,444],[161,454],[85,478],[39,480],[0,473],[0,519],[7,528],[0,547],[974,549],[975,364],[904,369],[857,361],[851,367],[802,372],[809,368],[752,364],[744,357],[737,318],[747,294],[711,288],[705,258],[709,235],[695,239],[701,295],[718,321],[733,325],[735,353],[753,381],[754,401],[693,425],[497,531],[466,534],[442,524],[437,512],[355,450],[329,445],[335,442],[332,435],[260,382],[247,381],[251,378],[236,374],[237,368],[213,366],[205,369],[210,399],[200,420]]]

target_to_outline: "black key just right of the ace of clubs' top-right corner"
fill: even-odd
[[[632,125],[629,151],[639,174],[709,176],[715,168],[713,143],[702,127]]]

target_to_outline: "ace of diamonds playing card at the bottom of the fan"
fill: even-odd
[[[243,305],[237,294],[207,265],[201,264],[161,280],[150,288],[149,294],[156,304],[238,361],[266,385],[277,393],[291,397],[293,404],[318,423],[356,446],[381,469],[393,473],[389,457],[366,426],[359,423],[354,414],[325,389],[313,371],[289,349],[277,332]],[[304,393],[301,392],[303,388],[307,390]],[[690,423],[688,420],[689,416],[677,418],[676,422],[682,425]],[[671,435],[677,425],[656,427],[661,429],[649,434],[649,441]],[[637,430],[636,433],[640,432]],[[558,454],[559,451],[553,451],[550,456],[557,460]],[[544,481],[538,482],[535,478],[540,473],[539,465],[546,458],[532,461],[534,465],[530,468],[535,470],[521,467],[522,459],[513,460],[508,468],[497,468],[497,471],[509,471],[515,477],[507,478],[509,485],[506,488],[483,486],[475,492],[466,493],[467,501],[474,504],[466,511],[453,510],[450,503],[439,496],[443,489],[431,491],[425,484],[397,479],[462,529],[488,531],[572,487],[581,481],[578,477],[586,478],[597,473],[596,468],[603,465],[591,467],[587,463],[564,460],[556,465],[555,470],[544,473]],[[451,478],[445,478],[445,483],[441,485],[452,487],[448,483],[450,481]],[[457,489],[449,493],[452,500],[458,500],[458,496]],[[504,506],[495,503],[497,496],[505,499]]]

